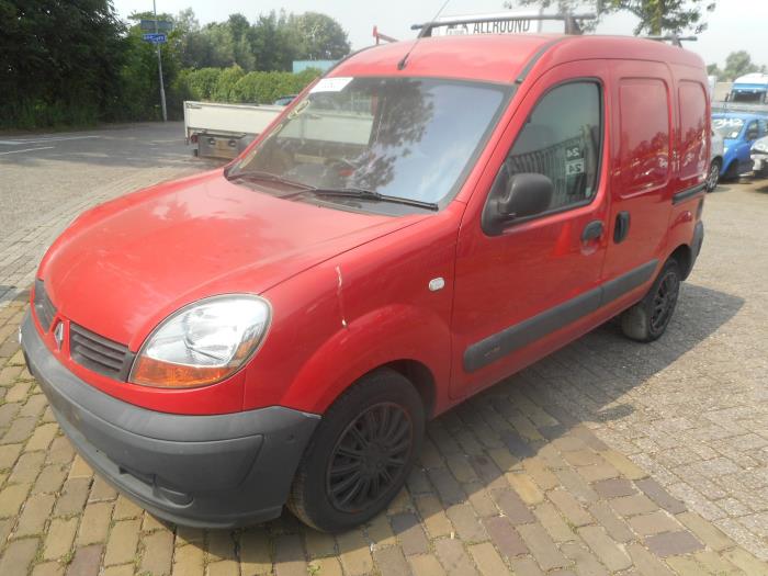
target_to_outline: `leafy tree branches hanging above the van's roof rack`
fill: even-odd
[[[601,16],[615,12],[630,12],[640,22],[634,29],[635,34],[660,35],[665,33],[693,32],[696,34],[707,29],[703,18],[707,12],[714,10],[714,0],[602,0],[601,2],[585,2],[583,0],[518,0],[519,5],[538,4],[544,8],[556,5],[560,11],[577,12],[578,10],[595,10],[596,3],[602,4],[598,21]],[[512,2],[505,2],[512,8]],[[596,24],[592,23],[592,26]]]

